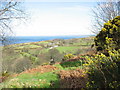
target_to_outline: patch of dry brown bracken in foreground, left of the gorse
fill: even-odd
[[[59,76],[61,88],[85,88],[87,74],[81,69],[69,71],[61,70]]]

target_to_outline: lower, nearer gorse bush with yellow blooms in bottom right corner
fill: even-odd
[[[120,88],[120,50],[109,51],[109,57],[97,54],[86,57],[88,88]]]

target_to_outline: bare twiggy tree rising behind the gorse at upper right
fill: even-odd
[[[92,32],[98,34],[105,22],[120,16],[120,0],[101,0],[92,11]]]

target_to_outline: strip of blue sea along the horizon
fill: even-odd
[[[53,39],[72,39],[72,38],[84,38],[93,35],[70,35],[70,36],[15,36],[12,37],[9,41],[9,44],[19,44],[19,43],[28,43],[28,42],[38,42],[45,40]]]

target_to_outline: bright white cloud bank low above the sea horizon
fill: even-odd
[[[90,34],[87,29],[88,20],[84,18],[49,14],[39,15],[26,26],[18,27],[18,36],[46,36],[46,35],[83,35]]]

